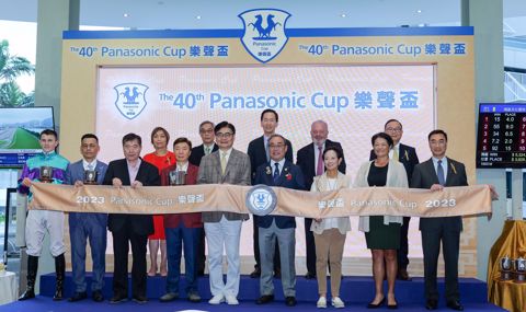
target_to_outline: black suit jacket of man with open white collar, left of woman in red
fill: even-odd
[[[114,160],[107,165],[106,174],[104,175],[104,185],[112,185],[112,180],[118,177],[123,185],[132,185],[129,181],[128,163],[126,159]],[[141,160],[139,171],[137,172],[136,181],[140,181],[144,186],[160,186],[159,170]],[[110,231],[118,231],[124,226],[129,224],[133,231],[139,235],[149,235],[153,233],[153,218],[151,215],[127,215],[127,213],[111,213],[107,219],[107,228]]]

